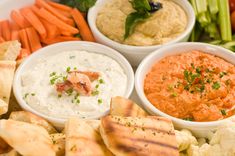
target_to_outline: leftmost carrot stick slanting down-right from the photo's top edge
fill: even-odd
[[[54,16],[59,18],[60,20],[64,21],[67,23],[70,19],[62,15],[60,12],[58,12],[56,9],[54,9],[52,6],[50,6],[46,1],[44,0],[35,0],[36,5],[45,8],[48,10],[50,13],[52,13]]]

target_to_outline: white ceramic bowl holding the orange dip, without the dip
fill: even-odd
[[[174,125],[177,128],[180,129],[189,129],[196,136],[200,137],[208,137],[211,134],[211,131],[215,130],[218,126],[221,124],[225,123],[227,120],[234,118],[228,118],[224,120],[219,120],[219,121],[213,121],[213,122],[191,122],[191,121],[185,121],[181,120],[175,117],[172,117],[156,107],[154,107],[149,100],[146,98],[144,90],[143,90],[143,84],[144,84],[144,79],[146,77],[146,74],[151,70],[152,66],[159,60],[163,59],[166,56],[170,55],[176,55],[184,52],[189,52],[191,50],[200,50],[202,52],[206,52],[209,54],[213,54],[216,56],[219,56],[226,61],[235,64],[235,54],[227,49],[224,49],[222,47],[210,45],[210,44],[205,44],[205,43],[177,43],[169,46],[165,46],[161,49],[158,49],[154,51],[152,54],[147,56],[139,65],[136,75],[135,75],[135,88],[136,92],[139,96],[139,98],[142,101],[143,107],[151,114],[154,115],[160,115],[163,117],[167,117],[171,119],[174,123]]]

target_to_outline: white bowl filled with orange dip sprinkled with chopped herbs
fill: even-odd
[[[147,56],[135,87],[152,114],[207,137],[235,117],[235,54],[205,43],[177,43]]]

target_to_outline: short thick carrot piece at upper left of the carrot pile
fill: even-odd
[[[11,19],[22,29],[31,26],[30,23],[15,10],[11,12]]]

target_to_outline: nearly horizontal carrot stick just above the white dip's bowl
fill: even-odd
[[[65,41],[80,41],[80,38],[77,37],[70,37],[70,36],[58,36],[56,38],[46,38],[42,39],[41,42],[47,45],[54,44],[58,42],[65,42]]]

